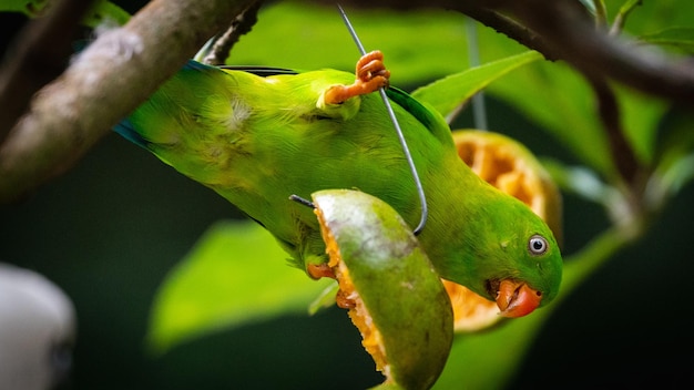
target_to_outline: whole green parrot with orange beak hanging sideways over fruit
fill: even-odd
[[[438,274],[524,316],[558,294],[562,258],[529,207],[480,179],[435,110],[388,86],[378,51],[355,74],[231,69],[190,61],[115,131],[214,189],[269,230],[296,267],[327,261],[316,215],[289,201],[356,188],[410,226],[417,187],[384,102],[386,92],[421,178],[428,219],[418,239]]]

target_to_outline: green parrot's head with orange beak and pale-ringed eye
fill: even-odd
[[[496,301],[500,315],[522,317],[559,292],[563,260],[552,230],[517,198],[492,186],[467,196],[469,218],[445,234],[422,232],[429,258],[447,280]],[[457,213],[449,204],[449,213]],[[438,218],[435,207],[432,218]],[[450,219],[449,219],[450,220]]]

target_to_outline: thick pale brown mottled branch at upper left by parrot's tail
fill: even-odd
[[[43,88],[0,145],[0,203],[78,161],[251,0],[154,0]]]

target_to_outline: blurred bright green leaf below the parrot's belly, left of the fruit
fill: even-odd
[[[307,314],[330,280],[312,280],[285,258],[271,234],[255,223],[213,225],[160,287],[147,347],[163,353],[214,331]]]

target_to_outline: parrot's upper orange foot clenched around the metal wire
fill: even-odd
[[[340,104],[349,98],[364,95],[388,86],[390,71],[384,64],[384,53],[375,50],[357,61],[357,80],[350,85],[333,85],[325,92],[326,104]]]

